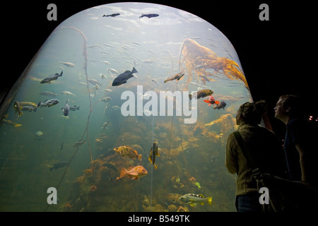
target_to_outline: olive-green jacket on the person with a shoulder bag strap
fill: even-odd
[[[241,124],[238,131],[261,171],[285,178],[282,141],[273,132],[258,125]],[[247,165],[247,160],[233,133],[229,134],[226,144],[225,167],[231,174],[237,174],[235,193],[237,196],[258,192],[252,168]]]

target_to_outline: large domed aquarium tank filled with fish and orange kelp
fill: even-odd
[[[134,2],[76,13],[1,105],[0,210],[236,211],[225,143],[245,102],[235,48],[206,20]]]

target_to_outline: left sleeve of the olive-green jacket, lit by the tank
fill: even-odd
[[[228,169],[228,172],[235,174],[238,172],[238,160],[237,160],[237,150],[236,150],[235,136],[233,133],[230,133],[228,136],[228,141],[226,143],[226,152],[225,152],[225,167]]]

